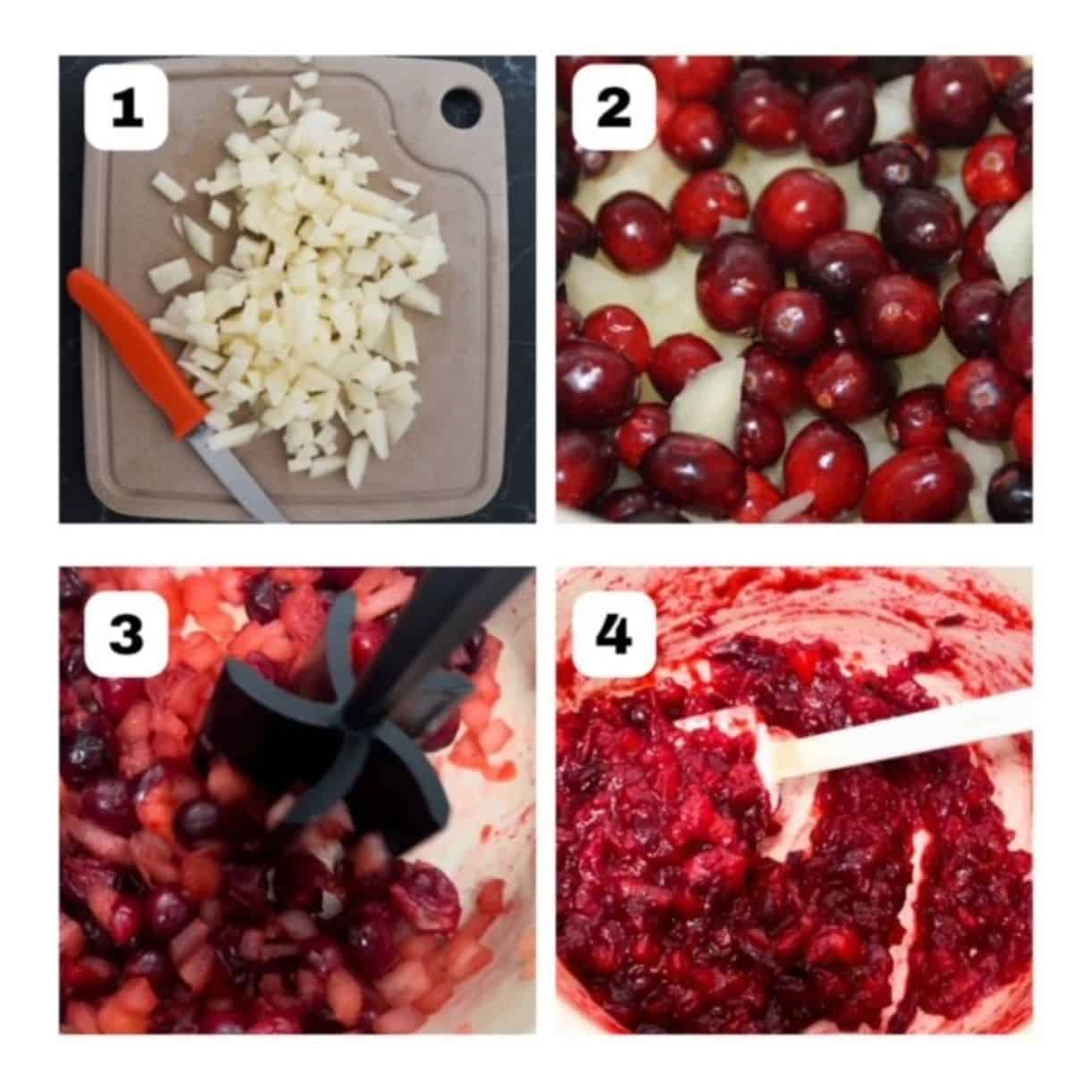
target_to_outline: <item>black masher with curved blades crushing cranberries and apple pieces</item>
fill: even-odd
[[[340,595],[328,615],[322,664],[298,691],[227,660],[199,739],[203,760],[222,754],[272,795],[308,787],[283,820],[287,828],[344,800],[356,834],[379,833],[394,853],[414,848],[450,814],[418,742],[473,690],[444,664],[530,572],[427,570],[360,678],[351,661],[357,597]]]

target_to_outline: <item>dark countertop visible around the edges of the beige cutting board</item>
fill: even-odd
[[[78,309],[63,291],[81,262],[85,139],[83,80],[98,63],[142,57],[60,58],[60,521],[134,521],[104,506],[86,478]],[[536,62],[532,56],[452,56],[495,79],[506,110],[510,225],[509,387],[503,482],[481,510],[451,521],[532,522],[536,519]],[[419,523],[419,522],[415,522]]]

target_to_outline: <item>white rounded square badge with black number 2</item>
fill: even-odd
[[[574,140],[629,151],[655,140],[655,75],[642,63],[589,63],[574,75]]]

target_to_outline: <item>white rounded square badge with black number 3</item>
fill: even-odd
[[[167,667],[167,604],[155,592],[98,592],[83,627],[98,678],[153,678]]]

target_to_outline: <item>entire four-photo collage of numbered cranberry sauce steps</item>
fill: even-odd
[[[1032,77],[61,56],[57,1029],[1029,1037]]]

